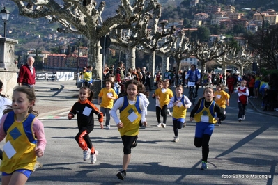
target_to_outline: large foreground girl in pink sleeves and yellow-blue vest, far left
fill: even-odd
[[[34,171],[37,156],[43,156],[46,146],[43,123],[33,111],[36,96],[33,88],[17,86],[13,90],[13,109],[6,109],[0,125],[3,146],[2,184],[25,184]]]

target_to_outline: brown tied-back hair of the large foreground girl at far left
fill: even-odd
[[[13,89],[13,92],[15,92],[15,91],[26,94],[26,97],[29,100],[29,102],[31,102],[31,101],[36,102],[35,90],[33,88],[29,88],[28,86],[16,86]],[[6,110],[4,110],[3,113],[5,114],[10,111],[13,111],[13,108],[11,106],[10,106],[10,108],[7,108]],[[29,107],[28,113],[32,113],[33,115],[38,116],[38,111],[34,111],[33,106]]]

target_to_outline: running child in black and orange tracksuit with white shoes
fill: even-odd
[[[98,121],[100,122],[100,128],[103,129],[103,115],[98,108],[92,104],[91,100],[93,99],[93,92],[90,88],[84,86],[79,89],[78,102],[76,102],[70,113],[68,113],[68,119],[71,120],[77,114],[77,125],[78,125],[78,134],[75,136],[79,147],[83,150],[83,160],[86,161],[90,159],[91,163],[97,161],[98,150],[92,145],[91,139],[88,134],[93,131],[94,121],[93,113],[98,115]]]

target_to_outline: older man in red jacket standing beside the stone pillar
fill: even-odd
[[[36,72],[33,63],[35,59],[32,56],[28,56],[27,63],[20,67],[20,72],[18,73],[17,83],[19,86],[29,86],[33,88],[35,86]]]

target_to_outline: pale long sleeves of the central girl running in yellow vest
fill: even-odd
[[[123,98],[124,97],[120,97],[115,102],[113,108],[111,109],[111,117],[114,119],[116,124],[121,122],[121,120],[118,118],[117,110],[123,106]],[[134,105],[136,102],[128,100],[128,103],[131,105]],[[145,106],[144,106],[144,100],[141,97],[139,97],[139,106],[141,108],[141,122],[146,122],[146,111],[145,111]]]

